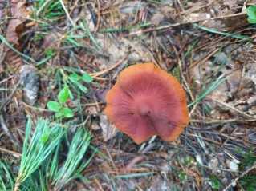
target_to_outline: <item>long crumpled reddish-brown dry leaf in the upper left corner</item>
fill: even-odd
[[[12,7],[11,10],[14,17],[26,17],[30,15],[30,12],[26,10],[25,2],[22,1],[18,2],[15,8]],[[19,36],[24,30],[24,22],[25,19],[22,18],[11,19],[6,30],[6,41],[18,51],[22,51]],[[17,72],[22,66],[22,57],[14,52],[14,50],[10,50],[8,46],[5,46],[5,51],[5,61],[8,63],[10,69]]]

